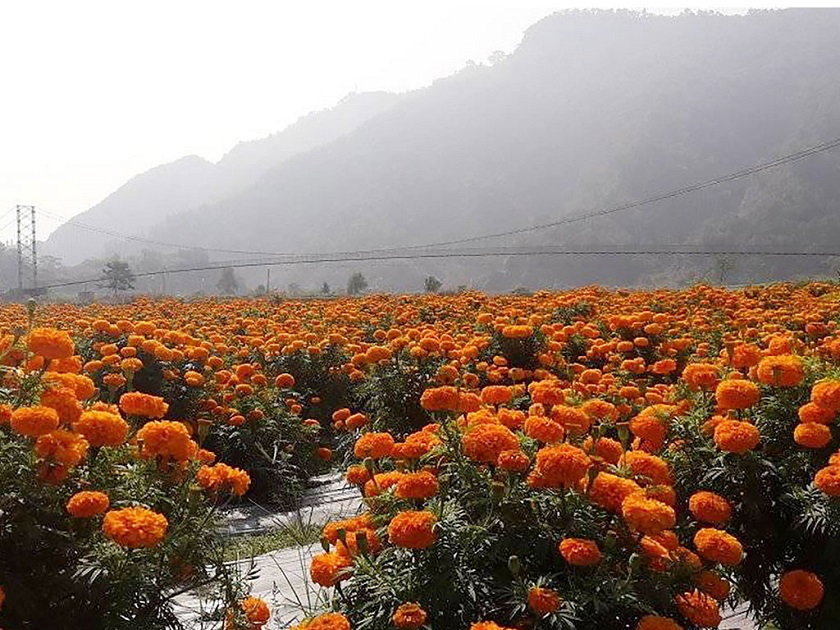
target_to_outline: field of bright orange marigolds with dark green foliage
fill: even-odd
[[[0,627],[272,627],[217,527],[339,469],[305,630],[840,627],[840,286],[0,309]],[[209,625],[207,625],[209,624]],[[215,624],[215,625],[212,625]]]

